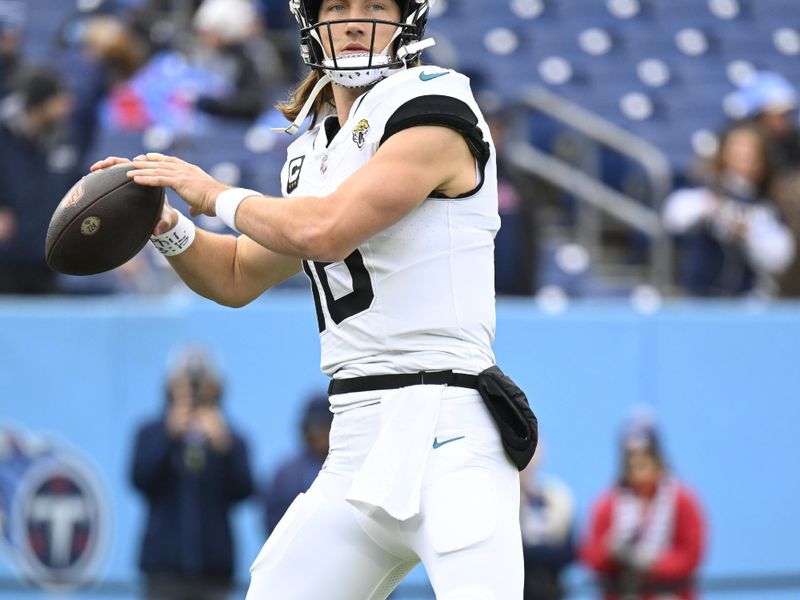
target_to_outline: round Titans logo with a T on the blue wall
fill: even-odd
[[[90,465],[73,449],[0,430],[0,548],[25,579],[57,590],[96,580],[107,507]]]

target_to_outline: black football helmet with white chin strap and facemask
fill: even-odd
[[[390,69],[405,67],[425,48],[432,46],[432,39],[423,40],[428,10],[435,0],[395,0],[400,6],[400,18],[395,21],[375,19],[353,19],[319,22],[322,0],[289,0],[289,10],[300,26],[300,51],[303,61],[313,69],[322,69],[337,85],[365,87],[386,76]],[[322,45],[322,36],[331,39],[331,25],[343,22],[364,22],[372,26],[371,39],[375,39],[379,24],[393,25],[396,31],[383,50],[370,50],[363,54],[348,54],[342,57],[328,56]],[[331,46],[333,44],[331,43]],[[372,44],[370,44],[372,47]]]

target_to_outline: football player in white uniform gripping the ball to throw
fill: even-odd
[[[378,600],[420,561],[439,600],[522,598],[519,465],[476,384],[494,364],[494,146],[468,79],[419,63],[432,3],[290,2],[310,71],[279,108],[287,133],[311,125],[283,198],[160,154],[129,173],[240,233],[165,205],[153,243],[199,294],[238,307],[310,280],[330,454],[253,562],[248,600]]]

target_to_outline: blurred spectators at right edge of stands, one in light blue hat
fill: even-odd
[[[735,100],[744,116],[721,133],[697,185],[664,203],[664,225],[678,240],[678,281],[693,296],[796,296],[797,93],[764,72]]]

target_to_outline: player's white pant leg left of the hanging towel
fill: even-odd
[[[377,432],[378,411],[358,410],[334,419],[325,469],[259,552],[246,600],[383,600],[418,562],[373,541],[344,499]]]

